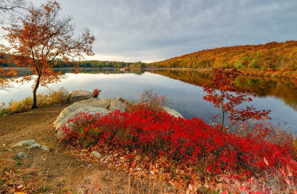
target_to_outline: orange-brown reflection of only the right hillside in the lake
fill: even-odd
[[[198,86],[203,86],[204,83],[211,83],[210,73],[174,70],[150,72]],[[257,94],[257,96],[276,96],[281,98],[285,104],[297,111],[297,85],[289,79],[238,76],[236,78],[236,82],[237,88],[240,91],[244,89],[252,89],[252,92]]]

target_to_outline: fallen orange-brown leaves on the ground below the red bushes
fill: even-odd
[[[138,182],[147,179],[154,179],[168,184],[168,193],[200,193],[202,189],[224,190],[223,178],[221,176],[205,176],[199,173],[194,167],[178,165],[165,157],[150,158],[142,155],[138,150],[133,152],[123,150],[121,147],[110,147],[106,145],[90,146],[87,149],[68,145],[76,155],[93,165],[94,162],[102,163],[105,169],[124,171],[130,174]],[[98,151],[102,158],[95,158],[90,155],[92,151]]]

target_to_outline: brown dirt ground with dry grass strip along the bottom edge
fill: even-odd
[[[150,185],[151,181],[149,184],[138,184],[138,181],[133,181],[123,172],[105,170],[103,164],[75,156],[66,145],[58,141],[53,122],[69,105],[71,103],[0,117],[0,159],[11,158],[18,163],[18,168],[29,166],[44,173],[46,182],[42,184],[46,191],[41,193],[83,193],[82,190],[89,193],[160,193],[154,185]],[[49,146],[50,150],[27,149],[23,146],[11,148],[10,152],[4,151],[28,139]],[[18,152],[25,153],[26,157],[19,159],[16,157]]]

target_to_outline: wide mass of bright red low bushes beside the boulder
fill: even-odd
[[[70,128],[61,127],[65,141],[116,145],[140,150],[151,157],[166,155],[187,165],[203,164],[214,173],[256,172],[267,167],[264,157],[269,166],[284,165],[293,153],[291,138],[271,142],[267,129],[258,129],[255,135],[222,134],[219,127],[214,128],[201,119],[184,120],[141,106],[132,113],[119,110],[105,116],[81,113],[68,123]]]

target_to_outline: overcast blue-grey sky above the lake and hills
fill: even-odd
[[[33,0],[40,4],[46,0]],[[217,47],[297,40],[296,0],[57,0],[76,32],[96,38],[87,60],[154,62]]]

